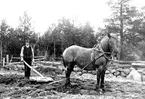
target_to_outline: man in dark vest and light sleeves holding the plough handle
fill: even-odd
[[[34,62],[34,51],[29,44],[29,40],[26,40],[25,45],[22,46],[20,57],[21,57],[21,61],[27,62],[30,66],[32,65],[32,62]],[[31,69],[24,63],[25,77],[27,79],[30,78],[30,70]]]

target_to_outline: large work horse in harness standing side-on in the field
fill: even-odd
[[[75,65],[79,68],[97,72],[96,90],[104,89],[104,77],[107,69],[107,63],[112,55],[119,53],[119,41],[116,37],[108,33],[104,36],[100,43],[93,48],[84,48],[77,45],[72,45],[62,53],[63,65],[66,68],[65,85],[70,84],[70,75]]]

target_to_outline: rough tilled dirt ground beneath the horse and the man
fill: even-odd
[[[37,68],[45,76],[54,80],[64,79],[64,73]],[[32,76],[36,76],[32,72]],[[71,75],[71,87],[64,81],[49,85],[24,79],[23,70],[0,71],[0,99],[145,99],[145,84],[131,82],[124,78],[106,75],[105,92],[95,91],[96,77],[91,74]]]

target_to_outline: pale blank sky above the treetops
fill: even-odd
[[[44,33],[62,17],[83,24],[89,22],[95,30],[103,27],[103,20],[110,16],[108,0],[0,0],[0,21],[13,28],[19,24],[24,12],[32,18],[36,32]],[[132,0],[137,7],[145,6],[145,0]]]

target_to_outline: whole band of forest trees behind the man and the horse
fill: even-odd
[[[5,20],[0,23],[0,59],[6,55],[19,57],[21,47],[30,39],[35,56],[46,56],[48,60],[60,58],[65,48],[79,45],[91,48],[107,33],[120,38],[120,60],[145,60],[145,7],[137,9],[131,0],[110,0],[110,17],[104,19],[104,28],[97,31],[90,25],[76,25],[74,20],[61,18],[48,27],[45,33],[37,33],[31,24],[31,16],[24,12],[17,28]],[[40,35],[42,34],[42,35]]]

